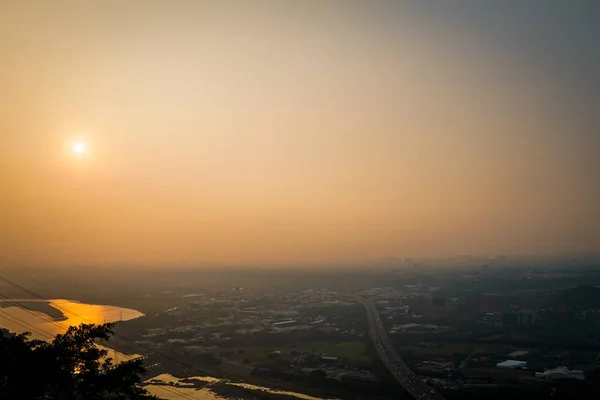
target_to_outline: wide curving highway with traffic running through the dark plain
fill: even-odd
[[[408,368],[392,347],[390,339],[383,326],[383,321],[375,305],[367,299],[359,298],[367,311],[369,320],[369,337],[377,349],[379,358],[402,387],[417,400],[444,400],[444,396],[427,386]]]

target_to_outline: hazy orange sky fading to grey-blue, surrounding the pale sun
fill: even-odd
[[[597,0],[0,2],[0,254],[598,251],[599,19]]]

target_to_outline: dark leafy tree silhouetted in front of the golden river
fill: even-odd
[[[113,365],[96,340],[107,340],[113,324],[69,327],[51,342],[29,333],[0,335],[0,399],[157,399],[139,384],[141,360]]]

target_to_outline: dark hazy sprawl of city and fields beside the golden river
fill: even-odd
[[[143,359],[151,392],[243,397],[231,385],[246,383],[315,398],[592,398],[596,263],[399,260],[369,272],[271,271],[267,279],[265,271],[155,271],[118,297],[109,276],[79,274],[79,282],[77,272],[64,273],[90,285],[73,293],[83,302],[142,311],[121,322],[123,311],[115,313],[105,346]],[[311,285],[315,278],[321,285]]]

